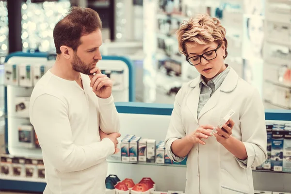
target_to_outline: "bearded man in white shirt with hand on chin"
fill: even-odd
[[[118,152],[120,128],[112,81],[102,75],[101,21],[72,7],[53,31],[57,59],[37,82],[30,120],[42,148],[44,194],[104,194],[106,158]]]

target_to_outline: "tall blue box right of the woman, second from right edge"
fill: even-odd
[[[284,125],[274,125],[272,131],[271,170],[283,170]]]

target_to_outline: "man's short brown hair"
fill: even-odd
[[[76,51],[81,45],[82,35],[101,30],[101,28],[102,22],[96,11],[78,6],[71,7],[68,14],[53,29],[57,54],[61,54],[61,46],[67,46]]]

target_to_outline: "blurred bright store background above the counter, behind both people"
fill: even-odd
[[[182,84],[199,75],[178,52],[175,32],[183,20],[208,13],[226,28],[226,64],[258,88],[266,109],[291,109],[290,0],[0,0],[0,153],[5,57],[54,53],[54,25],[73,5],[101,17],[102,55],[132,61],[134,101],[173,104]]]

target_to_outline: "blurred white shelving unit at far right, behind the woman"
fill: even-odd
[[[263,99],[267,106],[291,109],[291,2],[267,0]]]

